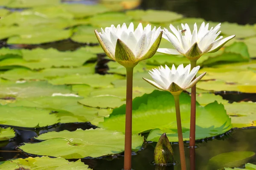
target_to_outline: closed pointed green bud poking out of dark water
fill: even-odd
[[[160,137],[154,150],[155,164],[173,164],[173,150],[166,133]]]

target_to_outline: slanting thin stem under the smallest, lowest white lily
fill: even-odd
[[[186,170],[186,159],[180,119],[180,95],[174,95],[175,108],[176,108],[176,119],[177,119],[177,129],[178,129],[178,139],[179,139],[179,150],[180,150],[180,164],[181,170]]]

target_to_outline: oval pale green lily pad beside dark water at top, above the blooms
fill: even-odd
[[[132,16],[134,20],[142,20],[150,23],[168,23],[182,18],[181,14],[171,11],[157,11],[157,10],[135,10],[128,11],[128,16]]]

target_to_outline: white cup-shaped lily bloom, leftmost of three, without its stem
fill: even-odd
[[[151,30],[151,25],[148,24],[143,29],[141,23],[135,30],[133,23],[128,28],[123,23],[122,27],[111,25],[101,31],[95,30],[95,34],[106,55],[126,68],[153,57],[163,34],[160,27]]]

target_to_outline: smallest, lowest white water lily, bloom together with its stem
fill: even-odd
[[[181,170],[186,170],[186,160],[185,160],[185,153],[184,153],[181,118],[180,118],[179,96],[183,90],[193,87],[206,74],[205,72],[204,74],[201,74],[199,77],[194,79],[200,66],[196,66],[192,68],[191,71],[190,71],[190,68],[191,68],[190,64],[187,65],[185,68],[183,67],[183,64],[181,64],[177,67],[177,69],[175,68],[174,65],[172,65],[172,69],[170,69],[167,65],[165,68],[161,66],[159,67],[159,69],[153,69],[153,71],[149,72],[149,74],[154,79],[154,81],[143,78],[145,81],[147,81],[151,85],[154,85],[156,88],[160,90],[169,91],[174,96]]]

